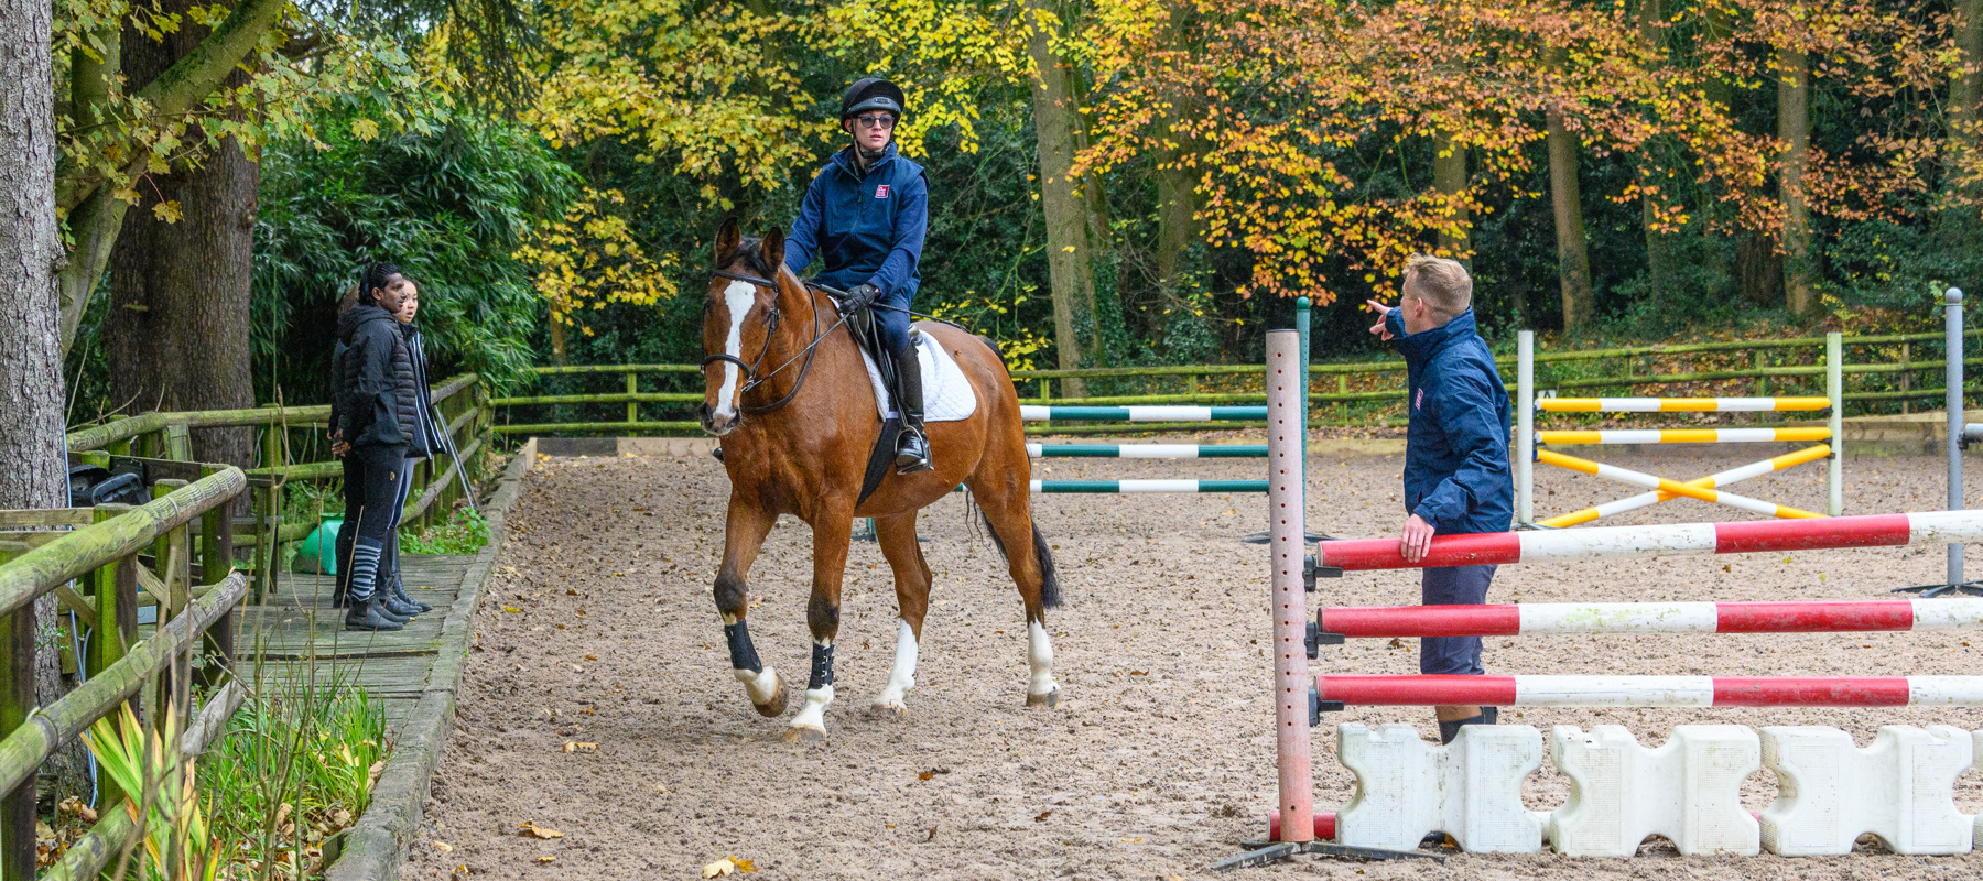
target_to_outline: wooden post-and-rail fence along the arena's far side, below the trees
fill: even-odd
[[[1983,329],[1965,331],[1967,337]],[[1925,345],[1924,345],[1925,343]],[[1539,351],[1535,363],[1543,373],[1539,385],[1559,391],[1594,393],[1602,389],[1646,389],[1668,385],[1719,383],[1741,387],[1739,393],[1769,397],[1799,391],[1822,395],[1824,337],[1797,339],[1737,339],[1682,345],[1634,345],[1616,349]],[[1914,361],[1922,349],[1939,349],[1941,333],[1880,333],[1846,335],[1844,401],[1858,413],[1878,407],[1912,409],[1914,401],[1943,397],[1933,385],[1939,359]],[[1662,369],[1658,363],[1680,357],[1727,361],[1713,369]],[[1515,389],[1515,353],[1497,355],[1509,391]],[[1612,361],[1612,365],[1604,365]],[[1743,365],[1747,361],[1747,365]],[[1652,363],[1652,367],[1644,367]],[[1967,359],[1965,365],[1983,363]],[[583,385],[595,377],[619,377],[613,391],[571,391],[508,395],[490,401],[502,411],[494,427],[498,435],[561,437],[561,435],[698,435],[686,417],[688,407],[702,401],[702,371],[688,363],[627,363],[535,367],[539,385]],[[1916,375],[1922,377],[1916,377]],[[1257,405],[1267,395],[1259,387],[1259,365],[1168,365],[1168,367],[1083,367],[1013,371],[1021,405],[1057,407],[1150,407],[1150,405]],[[1311,425],[1370,425],[1372,421],[1402,423],[1404,361],[1313,363],[1309,367]],[[642,391],[646,379],[648,391]],[[1061,379],[1114,381],[1140,393],[1101,397],[1053,397]],[[1178,391],[1162,389],[1182,385]],[[1852,389],[1858,385],[1858,389]],[[1212,389],[1208,389],[1212,387]],[[666,389],[666,391],[656,391]],[[1031,397],[1027,395],[1031,393]],[[1733,393],[1733,391],[1729,391]],[[621,415],[621,407],[625,407]],[[674,419],[654,419],[656,409],[676,413]],[[587,415],[601,419],[587,419]],[[613,413],[613,417],[605,417]],[[1222,423],[1224,429],[1259,427],[1263,423]],[[1095,423],[1095,425],[1029,425],[1029,435],[1120,435],[1152,431],[1204,431],[1202,423]]]

